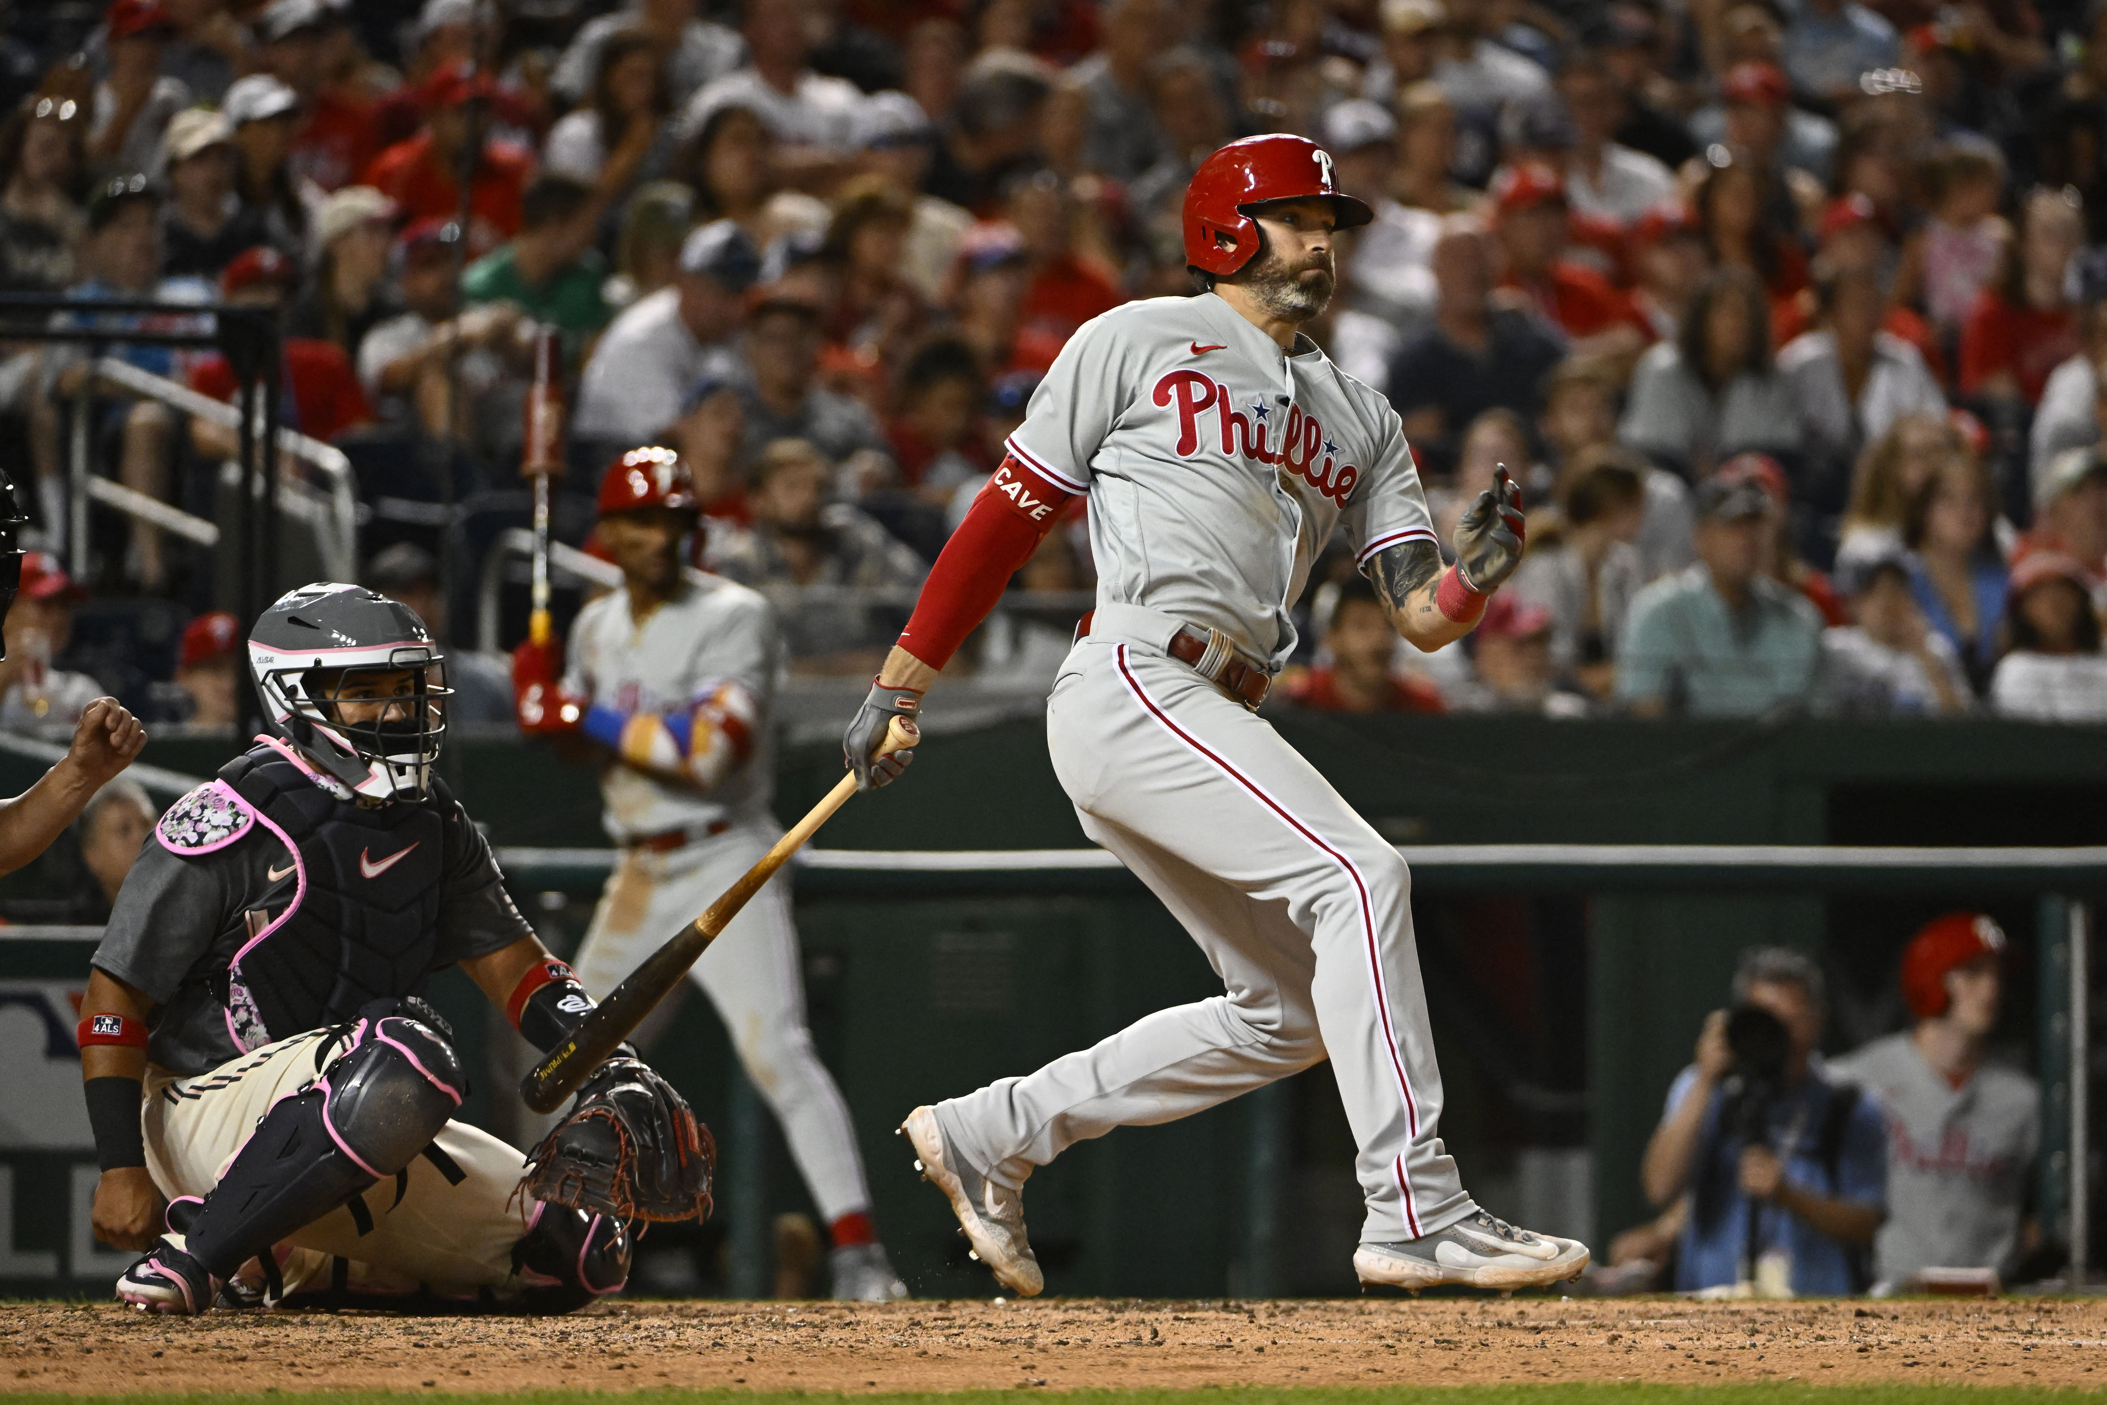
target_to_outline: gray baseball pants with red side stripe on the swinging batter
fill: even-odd
[[[1228,992],[944,1102],[940,1125],[1020,1184],[1075,1142],[1330,1055],[1361,1148],[1363,1241],[1439,1232],[1477,1207],[1437,1135],[1405,864],[1268,723],[1163,653],[1176,628],[1098,609],[1047,699],[1047,744],[1083,832],[1184,923]]]

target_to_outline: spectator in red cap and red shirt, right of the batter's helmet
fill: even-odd
[[[1500,166],[1492,177],[1500,286],[1517,289],[1580,354],[1631,358],[1648,343],[1646,322],[1610,280],[1566,255],[1572,236],[1566,179],[1544,162]]]

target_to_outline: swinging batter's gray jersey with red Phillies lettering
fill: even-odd
[[[1389,400],[1306,337],[1283,352],[1214,293],[1085,322],[1009,451],[1089,493],[1098,605],[1220,630],[1275,672],[1336,527],[1355,560],[1435,539]]]

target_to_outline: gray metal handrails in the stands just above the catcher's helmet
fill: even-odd
[[[145,400],[158,400],[169,409],[179,409],[194,419],[206,419],[228,430],[240,430],[242,423],[242,413],[236,407],[198,394],[179,381],[141,371],[139,367],[118,360],[116,356],[99,356],[95,360],[95,379]],[[261,432],[261,428],[257,428],[257,432]],[[306,482],[303,478],[284,478],[280,482],[280,489],[284,489],[284,495],[278,501],[280,514],[314,529],[322,571],[329,577],[339,581],[356,579],[358,482],[352,474],[352,461],[341,449],[287,428],[278,430],[278,451],[314,470],[314,474],[322,478],[320,484]],[[183,512],[181,508],[171,508],[169,503],[147,497],[137,489],[129,489],[120,482],[93,474],[88,470],[86,415],[74,417],[70,474],[74,491],[74,522],[70,527],[67,556],[72,558],[76,573],[86,567],[88,501],[99,501],[105,508],[175,533],[185,541],[196,541],[206,550],[219,546],[219,522]],[[221,487],[230,487],[240,493],[240,466],[232,459],[221,463],[219,482]],[[253,491],[261,497],[261,484]]]

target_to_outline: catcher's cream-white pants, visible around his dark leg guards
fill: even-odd
[[[331,1030],[293,1034],[196,1079],[150,1070],[143,1125],[154,1186],[171,1201],[211,1192],[272,1104],[320,1076],[333,1057],[322,1049],[329,1036]],[[449,1184],[428,1159],[411,1156],[400,1203],[392,1175],[365,1192],[373,1218],[367,1234],[339,1205],[278,1245],[289,1293],[329,1287],[337,1258],[346,1260],[346,1287],[362,1291],[413,1291],[419,1283],[438,1293],[506,1289],[514,1277],[512,1245],[527,1234],[535,1211],[535,1201],[514,1194],[525,1159],[464,1123],[447,1123],[432,1142],[466,1173],[461,1184]],[[179,1234],[173,1239],[183,1243]]]

